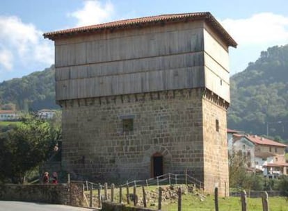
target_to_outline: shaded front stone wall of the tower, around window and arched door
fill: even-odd
[[[150,178],[151,158],[163,173],[203,179],[202,90],[62,101],[63,163],[73,176],[123,182]],[[123,132],[122,118],[134,119]]]

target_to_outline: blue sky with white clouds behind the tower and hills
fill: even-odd
[[[0,83],[54,64],[54,42],[42,34],[120,19],[211,12],[238,43],[230,75],[261,51],[288,44],[287,0],[1,0]]]

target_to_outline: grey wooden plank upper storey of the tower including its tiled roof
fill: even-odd
[[[206,87],[230,102],[228,47],[210,13],[45,33],[55,41],[56,101]]]

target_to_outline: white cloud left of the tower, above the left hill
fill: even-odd
[[[26,67],[53,64],[53,44],[44,40],[33,24],[24,24],[15,16],[0,16],[0,28],[0,71],[10,70],[16,63]]]

